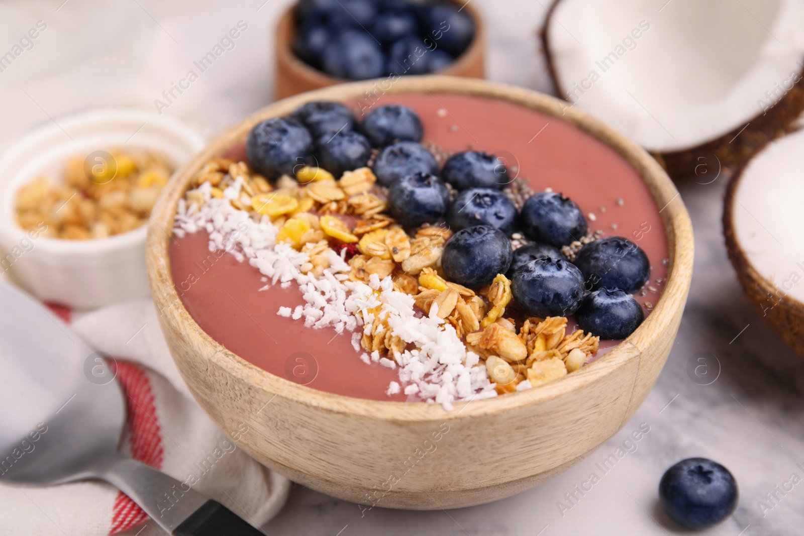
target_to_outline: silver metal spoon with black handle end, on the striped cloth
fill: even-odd
[[[97,478],[170,534],[263,534],[190,486],[121,456],[125,403],[101,354],[17,288],[0,284],[0,307],[0,481]]]

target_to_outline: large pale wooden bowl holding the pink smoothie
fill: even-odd
[[[221,134],[166,186],[147,243],[151,290],[170,351],[199,404],[260,463],[310,488],[368,505],[441,509],[477,505],[563,472],[634,415],[670,353],[687,300],[693,240],[687,210],[658,163],[637,145],[551,96],[482,80],[410,76],[390,93],[454,92],[502,99],[568,121],[612,147],[642,175],[667,235],[667,284],[650,316],[597,361],[543,387],[495,399],[440,404],[331,395],[290,382],[232,354],[187,313],[170,276],[165,229],[204,162],[243,141],[255,124],[311,100],[353,100],[371,82],[281,100]],[[267,405],[266,405],[267,404]],[[240,428],[238,428],[240,427]],[[439,438],[434,441],[434,436]],[[427,445],[430,448],[425,452]],[[425,454],[422,454],[424,452]],[[408,469],[419,462],[423,467]],[[398,481],[389,480],[399,474]]]

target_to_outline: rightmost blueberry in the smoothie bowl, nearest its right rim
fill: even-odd
[[[619,288],[633,294],[650,276],[642,248],[621,236],[609,236],[580,248],[575,265],[584,273],[587,290]]]

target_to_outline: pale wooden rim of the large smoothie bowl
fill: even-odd
[[[498,84],[486,80],[458,78],[454,76],[404,76],[397,80],[386,93],[410,92],[452,92],[470,96],[480,96],[491,99],[502,99],[545,113],[571,125],[575,125],[597,140],[611,147],[626,161],[634,166],[642,180],[646,183],[656,207],[662,207],[659,215],[665,228],[668,244],[667,284],[662,297],[646,320],[638,329],[623,342],[614,346],[601,358],[564,378],[536,390],[525,390],[498,396],[493,399],[483,399],[478,403],[474,400],[453,403],[453,411],[445,411],[441,404],[436,403],[408,403],[373,399],[359,399],[347,395],[334,395],[326,391],[319,391],[293,383],[281,378],[267,370],[246,361],[240,356],[227,350],[224,346],[212,339],[201,327],[195,323],[187,309],[184,308],[178,293],[175,290],[170,275],[170,257],[168,245],[170,235],[163,233],[162,228],[172,229],[175,209],[179,198],[183,197],[193,174],[203,166],[209,158],[215,158],[224,153],[236,143],[245,139],[248,131],[269,117],[278,117],[290,113],[297,106],[312,100],[350,100],[363,96],[363,92],[371,88],[376,80],[364,80],[350,84],[339,84],[290,96],[279,100],[269,106],[251,114],[240,124],[220,133],[203,151],[188,162],[182,170],[174,174],[170,182],[162,191],[148,226],[146,242],[146,259],[148,275],[151,285],[151,294],[154,297],[158,311],[162,315],[160,321],[162,329],[166,325],[174,329],[182,339],[182,343],[192,344],[195,350],[205,350],[207,357],[195,351],[194,359],[198,362],[210,360],[215,366],[224,369],[244,383],[268,395],[281,396],[289,403],[297,403],[306,407],[315,407],[319,410],[330,411],[342,415],[360,415],[372,419],[388,419],[396,422],[431,422],[449,419],[470,418],[478,415],[498,415],[511,409],[526,407],[556,399],[570,391],[588,386],[597,378],[608,374],[615,374],[617,370],[634,358],[640,358],[642,351],[654,346],[671,346],[673,341],[665,340],[664,331],[668,325],[677,323],[680,318],[679,310],[687,298],[687,291],[691,282],[692,259],[694,242],[692,225],[687,209],[679,197],[679,191],[659,166],[654,158],[633,141],[621,133],[605,125],[589,114],[573,108],[571,104],[556,97],[544,95],[524,88],[507,84]],[[166,335],[169,335],[166,333]],[[170,341],[170,337],[168,336]],[[210,350],[210,351],[206,351]],[[207,363],[207,367],[212,363]],[[201,367],[193,367],[197,368]],[[181,370],[182,367],[179,366]],[[183,373],[184,374],[184,373]],[[658,373],[657,373],[658,375]],[[638,375],[634,378],[634,387]],[[630,395],[633,395],[632,387]],[[198,396],[198,395],[196,395]],[[204,404],[202,404],[204,405]],[[466,411],[464,411],[466,410]]]

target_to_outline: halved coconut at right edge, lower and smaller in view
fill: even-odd
[[[740,170],[723,227],[745,293],[804,356],[804,130],[770,142]]]

